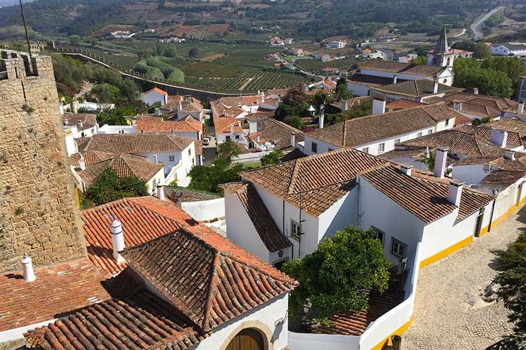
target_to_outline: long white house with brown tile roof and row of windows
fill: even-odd
[[[385,99],[374,99],[372,115],[348,119],[331,126],[323,126],[305,133],[303,152],[307,155],[355,148],[379,155],[394,150],[394,145],[447,128],[453,128],[456,111],[446,104],[416,106],[385,113]]]

